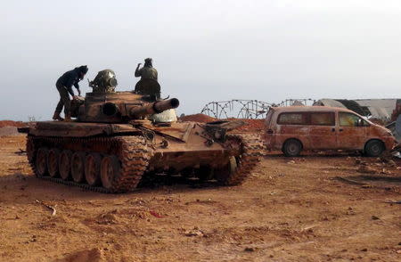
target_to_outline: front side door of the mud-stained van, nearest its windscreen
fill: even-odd
[[[367,121],[356,114],[339,111],[338,148],[363,150],[369,126]]]

